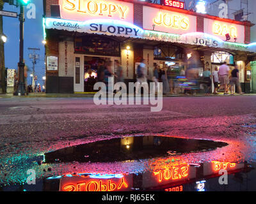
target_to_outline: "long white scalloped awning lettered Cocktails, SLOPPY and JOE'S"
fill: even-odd
[[[170,34],[143,30],[136,25],[121,20],[93,19],[80,22],[61,18],[45,18],[44,27],[45,29],[57,29],[77,33],[104,34],[107,36],[134,38],[137,40],[183,44],[188,45],[186,47],[197,48],[201,51],[209,50],[209,48],[211,48],[211,51],[227,50],[234,55],[244,53],[255,54],[256,52],[256,43],[241,44],[223,41],[207,33]]]

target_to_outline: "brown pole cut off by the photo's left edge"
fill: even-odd
[[[3,10],[4,2],[0,0],[0,10]],[[0,15],[0,36],[3,35],[3,15]],[[5,64],[4,64],[4,42],[0,39],[0,93],[5,93]]]

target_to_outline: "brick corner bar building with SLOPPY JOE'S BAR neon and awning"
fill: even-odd
[[[136,82],[141,59],[151,79],[155,64],[186,69],[189,55],[201,73],[223,61],[231,68],[237,63],[242,89],[250,92],[253,24],[183,8],[136,0],[44,0],[46,92],[93,92],[102,60],[120,61],[128,83]]]

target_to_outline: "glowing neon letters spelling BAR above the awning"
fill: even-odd
[[[214,22],[212,25],[212,31],[214,34],[225,36],[225,34],[229,34],[232,38],[237,38],[237,29],[234,25],[228,26],[227,24],[220,24],[218,22]]]

